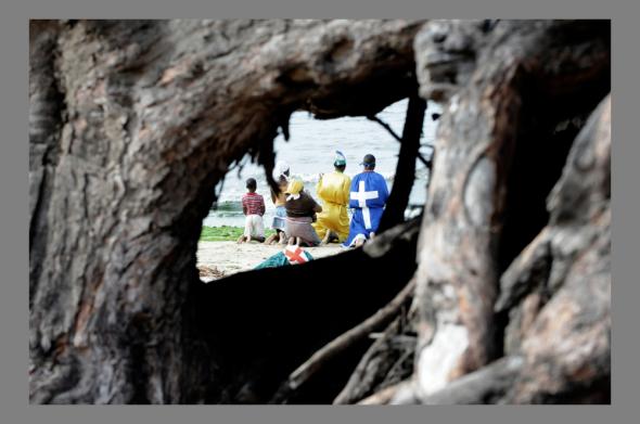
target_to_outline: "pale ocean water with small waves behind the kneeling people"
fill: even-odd
[[[397,134],[402,133],[407,100],[394,103],[377,116],[387,123]],[[431,117],[432,113],[439,113],[434,103],[428,103],[424,118],[423,136],[420,152],[425,158],[432,155],[432,145],[437,121]],[[364,117],[343,117],[338,119],[319,120],[306,112],[296,112],[291,117],[290,140],[278,136],[274,141],[276,159],[285,160],[291,168],[291,175],[300,178],[305,190],[320,203],[316,195],[316,183],[320,172],[333,170],[335,151],[340,150],[347,158],[345,174],[353,177],[362,170],[358,164],[362,157],[371,153],[375,156],[375,171],[384,176],[389,191],[393,189],[394,175],[398,160],[400,143],[397,142],[382,126]],[[426,183],[428,170],[417,159],[415,181],[409,200],[406,216],[411,217],[420,213],[426,200]],[[265,226],[270,227],[274,206],[269,195],[269,187],[265,177],[265,169],[256,164],[247,163],[241,170],[227,175],[225,181],[215,188],[219,198],[215,209],[204,219],[203,226],[244,226],[241,197],[246,192],[245,180],[255,178],[258,183],[257,193],[265,197],[267,211]],[[214,190],[214,188],[212,188]]]

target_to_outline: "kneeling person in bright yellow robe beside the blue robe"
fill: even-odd
[[[313,229],[322,239],[322,244],[333,240],[344,242],[349,235],[349,191],[351,179],[344,175],[347,160],[341,152],[335,152],[333,162],[335,170],[331,174],[321,174],[316,185],[316,193],[322,201],[322,211],[317,215]]]

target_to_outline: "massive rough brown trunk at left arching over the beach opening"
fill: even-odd
[[[408,95],[420,25],[33,21],[30,401],[238,400],[225,386],[234,386],[225,381],[231,374],[220,371],[229,357],[207,342],[218,334],[200,325],[204,311],[194,305],[205,290],[209,305],[230,313],[219,320],[246,317],[239,329],[249,317],[268,320],[246,310],[254,300],[240,282],[231,291],[231,282],[199,286],[194,254],[213,187],[247,152],[269,168],[272,140],[294,110],[372,115]],[[289,284],[260,279],[270,309],[290,306],[287,296],[274,300]],[[310,343],[319,347],[366,318],[405,281],[381,285],[359,311],[337,313],[344,320]],[[340,307],[355,287],[335,288],[345,294]],[[306,290],[300,304],[319,287]],[[241,310],[225,308],[243,295]],[[332,320],[318,308],[299,313],[300,322]],[[234,336],[251,341],[245,331]],[[312,351],[308,344],[291,350]]]

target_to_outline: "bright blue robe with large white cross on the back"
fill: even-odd
[[[386,181],[380,174],[364,171],[354,177],[349,193],[354,215],[344,246],[349,246],[358,234],[369,239],[369,233],[377,231],[388,195]]]

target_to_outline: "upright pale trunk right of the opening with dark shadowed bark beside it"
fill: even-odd
[[[417,37],[424,93],[447,100],[419,242],[418,398],[503,355],[500,275],[548,222],[573,138],[610,90],[607,22],[477,28],[430,23]]]

